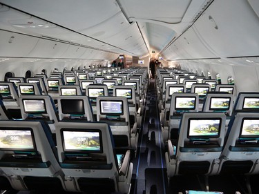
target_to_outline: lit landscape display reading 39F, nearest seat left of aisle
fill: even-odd
[[[65,151],[101,151],[99,132],[63,131]]]

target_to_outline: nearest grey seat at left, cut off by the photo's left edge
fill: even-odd
[[[17,191],[63,191],[64,175],[48,125],[0,121],[0,169]]]

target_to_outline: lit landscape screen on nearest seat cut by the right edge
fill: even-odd
[[[241,136],[259,136],[259,119],[244,119],[242,122]]]

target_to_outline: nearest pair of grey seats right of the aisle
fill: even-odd
[[[178,139],[169,139],[166,169],[175,175],[259,173],[259,115],[237,110],[225,133],[224,113],[184,113]]]

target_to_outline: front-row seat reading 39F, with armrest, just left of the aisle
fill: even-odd
[[[59,122],[57,151],[67,191],[129,192],[133,172],[130,151],[115,153],[108,124]]]

